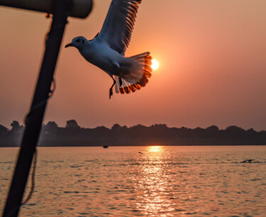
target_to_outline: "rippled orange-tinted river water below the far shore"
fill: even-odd
[[[0,148],[0,211],[17,152]],[[39,147],[20,216],[265,217],[266,146]]]

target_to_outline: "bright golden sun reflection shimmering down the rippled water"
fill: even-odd
[[[136,188],[139,192],[137,208],[145,216],[172,216],[172,201],[169,196],[170,177],[165,170],[165,149],[161,146],[147,147]]]

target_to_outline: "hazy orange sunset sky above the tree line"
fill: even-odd
[[[109,75],[63,48],[75,36],[93,38],[110,2],[95,0],[88,18],[69,18],[45,122],[266,129],[265,0],[143,0],[126,55],[150,51],[160,68],[142,90],[111,100]],[[50,21],[0,7],[1,125],[23,123]]]

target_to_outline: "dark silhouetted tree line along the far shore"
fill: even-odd
[[[0,125],[0,147],[19,146],[25,127],[18,121],[11,123],[11,129]],[[265,145],[266,131],[242,129],[231,126],[218,129],[197,127],[167,127],[152,125],[133,127],[113,125],[107,127],[79,127],[76,120],[68,120],[65,127],[58,127],[50,121],[43,125],[38,146],[130,146],[130,145]]]

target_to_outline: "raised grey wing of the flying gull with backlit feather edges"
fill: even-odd
[[[113,0],[98,39],[109,43],[109,46],[124,55],[138,12],[141,0]]]

